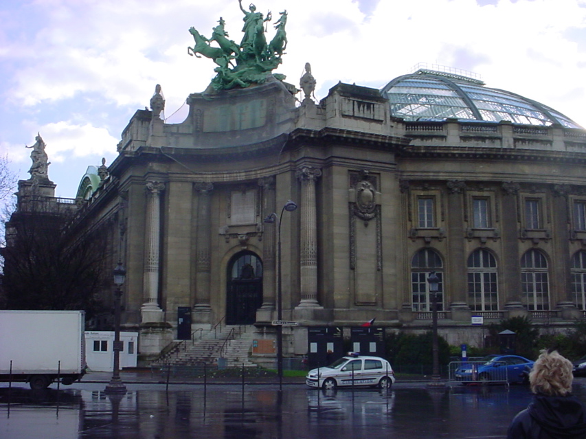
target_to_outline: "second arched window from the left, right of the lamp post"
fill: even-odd
[[[472,311],[497,311],[497,260],[486,249],[477,249],[468,258],[468,298]]]

